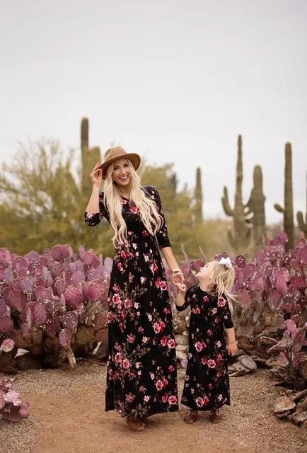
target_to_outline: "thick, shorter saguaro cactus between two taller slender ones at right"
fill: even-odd
[[[262,169],[256,165],[253,175],[254,186],[250,193],[250,199],[246,204],[245,215],[253,213],[250,223],[253,225],[253,236],[255,246],[261,246],[262,236],[266,236],[265,226],[265,195],[262,188]]]

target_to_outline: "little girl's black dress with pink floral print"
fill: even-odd
[[[190,305],[189,352],[181,402],[197,411],[230,404],[225,328],[233,327],[225,297],[213,296],[199,286],[185,293],[183,311]]]

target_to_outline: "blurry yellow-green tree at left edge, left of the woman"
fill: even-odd
[[[65,156],[58,142],[35,142],[22,145],[12,164],[2,165],[1,247],[23,254],[33,249],[41,252],[57,243],[69,243],[73,248],[82,243],[103,251],[97,244],[103,239],[107,242],[110,233],[105,224],[90,229],[83,222],[81,169],[74,171],[74,155],[69,151]]]

